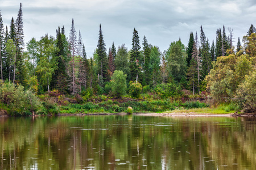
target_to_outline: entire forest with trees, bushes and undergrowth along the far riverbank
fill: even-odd
[[[164,112],[220,107],[224,112],[256,109],[256,29],[233,44],[233,29],[217,28],[209,42],[203,27],[189,42],[171,42],[160,52],[134,28],[132,48],[109,48],[100,24],[98,44],[86,56],[72,20],[69,34],[24,42],[22,4],[14,22],[0,11],[0,112],[12,116],[57,113]]]

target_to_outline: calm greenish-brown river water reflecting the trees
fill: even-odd
[[[256,169],[256,119],[0,118],[0,169]]]

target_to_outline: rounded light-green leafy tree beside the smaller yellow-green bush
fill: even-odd
[[[112,92],[115,96],[121,97],[126,93],[126,74],[123,71],[115,70],[111,77]]]

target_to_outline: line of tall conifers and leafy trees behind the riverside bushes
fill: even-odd
[[[51,90],[72,95],[86,90],[109,94],[113,86],[111,82],[118,79],[117,75],[113,76],[118,70],[122,71],[118,74],[121,74],[122,78],[119,79],[125,84],[123,88],[132,83],[163,89],[166,84],[173,84],[172,88],[187,89],[200,95],[202,91],[210,90],[205,78],[216,67],[218,57],[250,53],[247,51],[249,46],[243,47],[239,37],[235,47],[233,29],[228,28],[228,32],[227,35],[224,25],[222,29],[218,28],[216,40],[210,44],[201,26],[200,37],[197,32],[191,32],[187,46],[179,39],[160,52],[159,47],[151,45],[146,36],[141,43],[139,33],[134,28],[130,50],[125,44],[116,47],[114,42],[107,49],[100,24],[97,48],[93,56],[88,58],[81,32],[76,32],[72,19],[68,37],[64,26],[59,27],[56,36],[46,34],[40,40],[33,37],[26,43],[24,50],[20,3],[18,16],[15,22],[11,19],[10,27],[4,28],[0,12],[1,79],[32,88],[38,94]],[[255,28],[251,24],[247,37],[253,33]],[[244,41],[247,42],[246,38]]]

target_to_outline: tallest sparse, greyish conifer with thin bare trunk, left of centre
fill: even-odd
[[[77,54],[77,40],[76,40],[76,29],[74,26],[74,19],[72,19],[72,26],[69,32],[69,45],[71,50],[71,57],[72,57],[72,73],[71,73],[71,88],[72,94],[76,93],[76,75],[75,75],[75,56]]]

